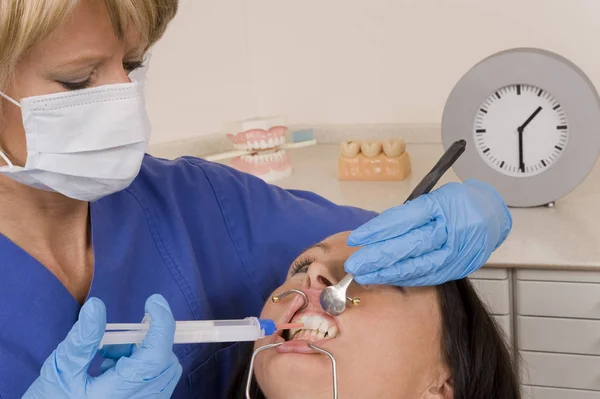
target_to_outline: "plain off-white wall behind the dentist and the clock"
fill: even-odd
[[[148,76],[153,143],[243,118],[440,123],[456,81],[511,47],[600,89],[600,0],[183,0]]]

